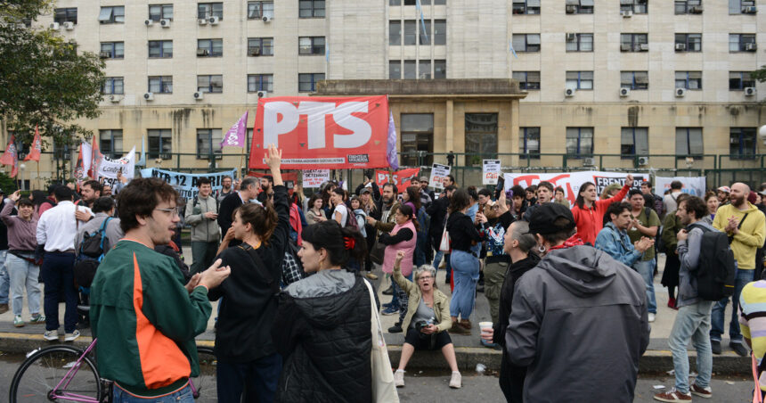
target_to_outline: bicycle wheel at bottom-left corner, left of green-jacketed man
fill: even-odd
[[[89,399],[92,399],[97,402],[101,398],[102,385],[98,369],[93,361],[83,357],[79,366],[72,370],[82,354],[82,351],[69,346],[52,346],[29,356],[13,375],[11,403],[39,402],[48,399],[55,401],[91,401]],[[69,370],[72,371],[69,372]],[[67,374],[69,377],[64,380]],[[58,389],[56,389],[57,386]]]

